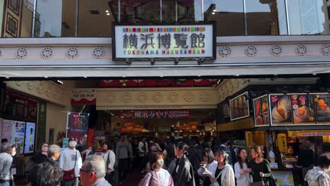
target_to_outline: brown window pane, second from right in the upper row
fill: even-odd
[[[276,1],[248,0],[245,2],[247,35],[279,35]]]

